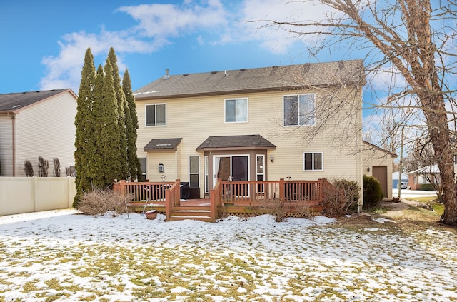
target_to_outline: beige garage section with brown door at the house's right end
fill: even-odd
[[[381,184],[384,198],[392,198],[392,172],[395,153],[363,141],[363,173]]]

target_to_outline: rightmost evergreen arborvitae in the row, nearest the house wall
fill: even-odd
[[[140,179],[141,166],[136,155],[136,129],[138,129],[138,116],[136,116],[135,97],[131,91],[131,81],[129,70],[126,69],[122,78],[122,90],[126,96],[124,109],[124,119],[126,121],[126,141],[127,141],[127,168],[131,179]]]

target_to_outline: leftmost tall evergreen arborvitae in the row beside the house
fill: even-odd
[[[77,112],[74,124],[76,126],[74,161],[76,174],[76,196],[73,206],[77,208],[79,198],[84,191],[91,190],[91,178],[88,167],[91,164],[91,156],[94,154],[94,131],[93,118],[91,114],[92,103],[94,101],[95,86],[95,66],[94,56],[91,49],[86,50],[84,56],[84,66],[81,71],[81,84],[77,99]]]

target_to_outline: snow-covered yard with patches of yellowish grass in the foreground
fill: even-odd
[[[457,301],[457,235],[273,216],[0,217],[0,301]]]

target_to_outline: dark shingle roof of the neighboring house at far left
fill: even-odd
[[[1,111],[17,111],[26,106],[55,96],[63,91],[70,89],[53,89],[44,91],[27,91],[11,94],[0,94],[0,112]]]

